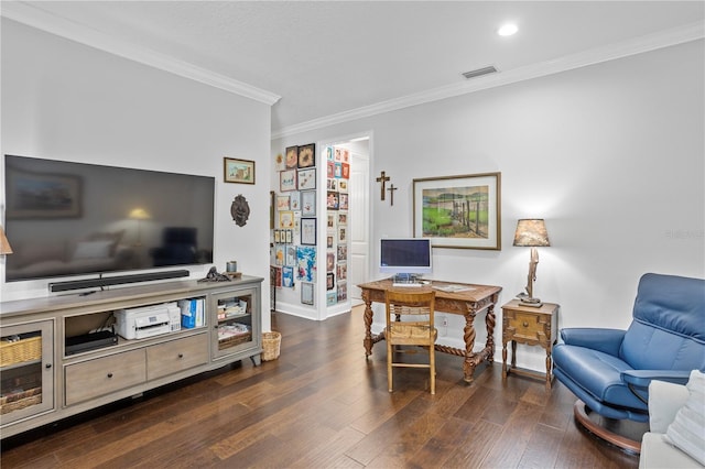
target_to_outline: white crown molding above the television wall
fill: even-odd
[[[204,85],[243,96],[272,106],[281,99],[273,92],[229,78],[225,75],[176,59],[165,54],[116,40],[86,25],[48,13],[41,8],[19,1],[2,1],[0,15],[19,23],[138,62],[150,67],[188,78]]]

